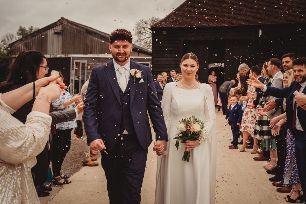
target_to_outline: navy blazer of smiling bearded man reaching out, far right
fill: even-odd
[[[274,96],[274,97],[278,97],[278,98],[286,97],[287,126],[290,132],[293,132],[293,129],[292,129],[293,96],[294,96],[293,92],[297,91],[298,85],[299,83],[297,83],[296,81],[293,81],[290,87],[279,89],[279,88],[267,86],[267,91],[266,91],[266,94]],[[304,88],[303,93],[306,95],[306,87]],[[305,115],[306,115],[306,110],[302,109],[300,106],[297,106],[297,117],[304,131],[306,131]]]

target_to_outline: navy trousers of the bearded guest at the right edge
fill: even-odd
[[[306,137],[305,135],[295,135],[295,156],[297,159],[297,170],[303,192],[306,192]],[[306,196],[304,196],[306,202]]]

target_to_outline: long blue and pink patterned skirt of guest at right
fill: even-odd
[[[292,160],[292,162],[290,162]],[[297,159],[295,157],[295,138],[287,130],[287,157],[285,161],[283,185],[297,185],[300,184],[299,173],[297,171]]]

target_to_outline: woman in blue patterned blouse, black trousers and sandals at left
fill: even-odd
[[[64,77],[60,72],[60,78],[63,82]],[[81,95],[77,94],[74,97],[66,90],[63,90],[59,99],[52,101],[52,105],[56,111],[74,109],[81,101]],[[61,173],[63,161],[70,150],[71,131],[76,128],[76,119],[69,122],[56,124],[56,135],[53,136],[53,153],[52,153],[52,170],[54,184],[70,184],[67,180],[68,175]],[[96,160],[97,158],[95,158]]]

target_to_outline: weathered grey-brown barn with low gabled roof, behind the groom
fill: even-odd
[[[65,18],[9,45],[12,57],[24,50],[45,54],[49,73],[52,69],[61,71],[72,94],[80,92],[92,68],[113,59],[109,51],[109,34]],[[151,52],[137,45],[133,45],[130,58],[151,65]]]

